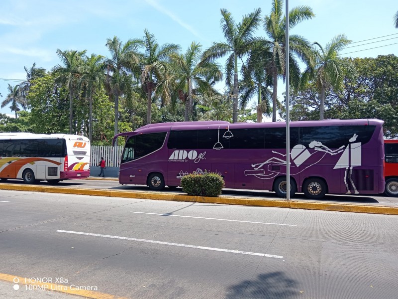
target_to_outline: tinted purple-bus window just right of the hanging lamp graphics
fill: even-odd
[[[264,149],[265,129],[235,129],[231,131],[230,149]],[[222,143],[224,144],[224,138]]]

